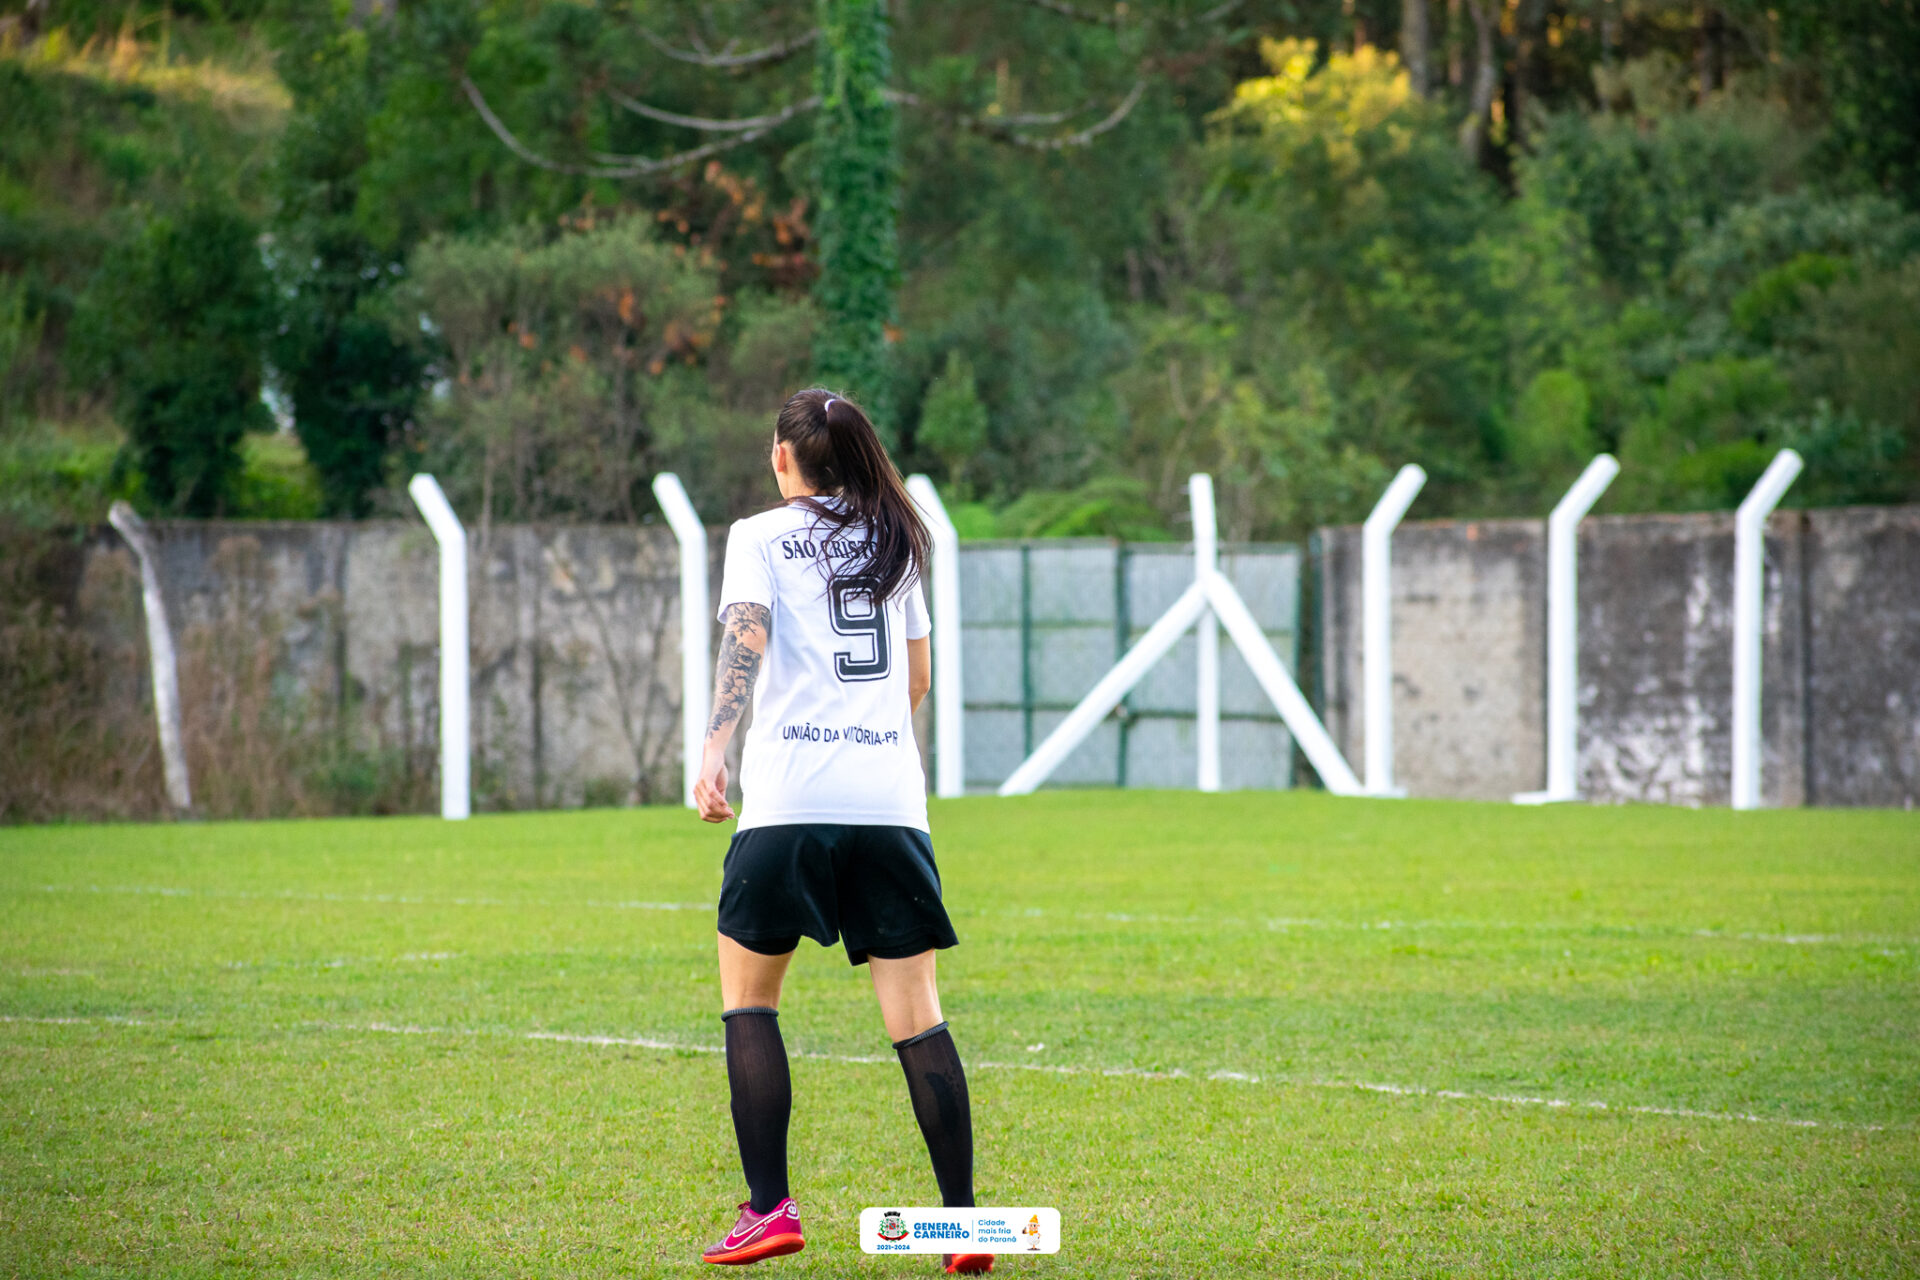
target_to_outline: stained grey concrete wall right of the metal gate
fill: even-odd
[[[1323,530],[1321,697],[1363,752],[1359,530]],[[1730,512],[1580,528],[1580,787],[1726,804]],[[1778,512],[1766,532],[1763,800],[1920,798],[1920,509]],[[1394,535],[1394,771],[1411,794],[1507,798],[1546,771],[1546,522]]]

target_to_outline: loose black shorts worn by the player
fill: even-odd
[[[933,841],[914,827],[795,823],[735,831],[720,871],[720,933],[783,956],[808,936],[847,960],[954,946]]]

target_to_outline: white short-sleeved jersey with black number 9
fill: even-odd
[[[741,748],[739,831],[925,831],[927,777],[906,697],[906,641],[933,629],[925,597],[912,581],[876,608],[858,580],[829,581],[828,566],[843,568],[866,530],[829,537],[820,524],[806,507],[780,507],[728,532],[720,618],[730,604],[766,604],[774,618]]]

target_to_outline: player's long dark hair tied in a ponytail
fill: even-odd
[[[774,439],[793,449],[806,484],[841,499],[837,507],[818,497],[795,499],[814,512],[824,541],[866,526],[868,537],[852,555],[822,557],[833,578],[870,580],[877,606],[925,576],[927,526],[856,403],[820,388],[797,391],[780,407]]]

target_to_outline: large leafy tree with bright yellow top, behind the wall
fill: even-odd
[[[1235,342],[1244,368],[1267,370],[1260,403],[1292,401],[1296,422],[1321,422],[1308,457],[1346,459],[1325,478],[1294,462],[1315,501],[1265,524],[1363,514],[1352,480],[1415,457],[1440,503],[1471,501],[1500,461],[1494,409],[1528,372],[1517,357],[1551,361],[1565,338],[1519,332],[1559,313],[1536,305],[1551,276],[1528,263],[1557,242],[1521,234],[1392,56],[1334,52],[1315,73],[1311,46],[1263,52],[1273,75],[1240,84],[1202,155],[1196,236],[1231,253],[1196,257],[1194,274],[1213,311],[1248,317]]]

